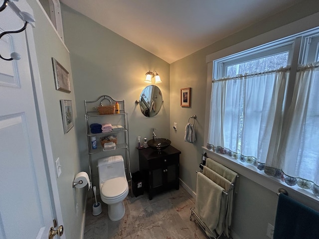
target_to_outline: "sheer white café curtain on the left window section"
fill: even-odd
[[[208,143],[265,162],[281,129],[288,74],[281,68],[213,81]]]

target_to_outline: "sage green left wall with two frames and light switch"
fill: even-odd
[[[79,229],[82,222],[84,223],[86,191],[85,188],[72,188],[75,174],[81,171],[76,141],[77,135],[74,127],[64,134],[60,107],[61,99],[71,100],[73,119],[77,120],[70,57],[37,1],[27,0],[27,2],[33,9],[36,21],[36,27],[33,28],[34,40],[52,147],[52,152],[47,153],[52,153],[54,160],[59,157],[62,166],[62,173],[57,179],[57,184],[64,223],[64,234],[67,239],[82,238],[82,231]],[[71,93],[68,94],[55,90],[51,57],[54,57],[69,71]],[[79,206],[78,214],[76,212],[77,203]]]

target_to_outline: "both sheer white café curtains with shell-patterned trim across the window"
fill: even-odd
[[[319,197],[319,62],[213,81],[208,146]],[[285,114],[284,114],[285,113]]]

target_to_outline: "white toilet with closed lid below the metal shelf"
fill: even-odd
[[[119,221],[125,215],[123,200],[129,194],[122,155],[100,158],[98,171],[101,199],[108,205],[111,221]]]

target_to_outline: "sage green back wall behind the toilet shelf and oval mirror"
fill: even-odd
[[[129,114],[131,165],[135,172],[139,170],[135,148],[137,136],[149,139],[152,127],[158,128],[159,137],[169,136],[169,64],[64,4],[62,19],[65,44],[71,56],[81,164],[88,171],[84,100],[94,101],[108,95],[115,100],[125,100],[125,110]],[[149,70],[156,70],[162,80],[157,86],[164,103],[154,118],[142,115],[139,105],[135,104],[148,85],[144,80]],[[94,175],[97,175],[96,161],[94,158]],[[98,177],[94,178],[93,184],[98,185]]]

